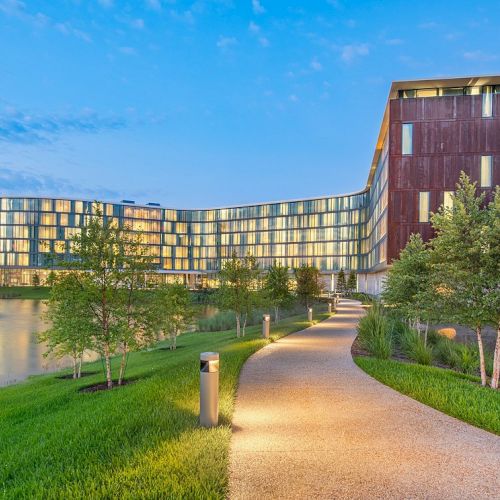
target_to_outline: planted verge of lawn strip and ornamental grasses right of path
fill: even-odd
[[[360,320],[357,333],[352,354],[372,377],[448,415],[500,434],[500,391],[481,386],[475,346],[432,330],[425,339],[378,303]],[[493,356],[486,353],[485,359],[491,375]]]

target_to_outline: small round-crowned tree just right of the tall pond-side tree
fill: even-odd
[[[170,349],[177,348],[177,337],[191,324],[194,311],[189,290],[181,283],[159,286],[154,292],[157,328],[168,339]]]

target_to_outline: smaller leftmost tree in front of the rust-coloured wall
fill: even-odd
[[[387,272],[382,298],[393,306],[420,332],[426,322],[424,343],[427,344],[429,320],[435,315],[430,252],[420,234],[412,234]]]

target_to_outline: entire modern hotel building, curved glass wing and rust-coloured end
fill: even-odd
[[[158,273],[191,286],[236,251],[263,269],[275,260],[315,265],[332,289],[341,268],[354,270],[360,291],[379,293],[410,234],[432,235],[430,213],[450,203],[462,170],[488,195],[500,183],[500,76],[393,83],[357,193],[200,210],[127,200],[101,208],[144,233]],[[71,259],[71,237],[94,210],[92,201],[0,196],[0,284],[29,285],[54,255]]]

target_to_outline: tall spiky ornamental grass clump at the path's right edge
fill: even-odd
[[[366,316],[361,318],[358,325],[358,339],[361,346],[376,358],[391,357],[392,331],[380,304],[374,304]]]

